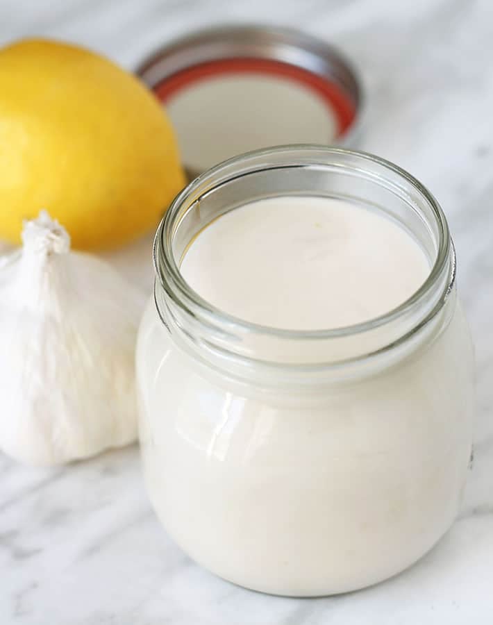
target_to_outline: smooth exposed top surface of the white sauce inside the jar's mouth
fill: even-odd
[[[181,264],[187,283],[220,310],[291,330],[388,313],[429,272],[401,226],[324,197],[275,197],[232,210],[199,233]]]

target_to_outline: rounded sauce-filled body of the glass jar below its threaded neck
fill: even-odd
[[[147,490],[179,546],[242,586],[357,590],[420,558],[458,512],[471,453],[469,331],[455,292],[432,340],[311,390],[237,381],[149,303],[137,378]]]

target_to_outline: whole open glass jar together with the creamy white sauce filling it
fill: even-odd
[[[440,206],[365,153],[256,151],[178,195],[137,346],[149,497],[215,574],[310,597],[451,526],[473,353]]]

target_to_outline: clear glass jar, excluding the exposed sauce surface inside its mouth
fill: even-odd
[[[386,213],[426,252],[426,282],[381,317],[326,331],[250,324],[190,289],[179,267],[202,228],[292,194]],[[154,261],[140,437],[149,496],[178,545],[229,581],[299,597],[374,584],[431,549],[458,512],[474,391],[453,244],[423,185],[344,149],[249,153],[178,195]]]

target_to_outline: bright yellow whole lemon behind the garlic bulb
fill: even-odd
[[[47,209],[74,247],[156,226],[183,187],[176,139],[140,81],[97,54],[24,40],[0,49],[0,239]]]

